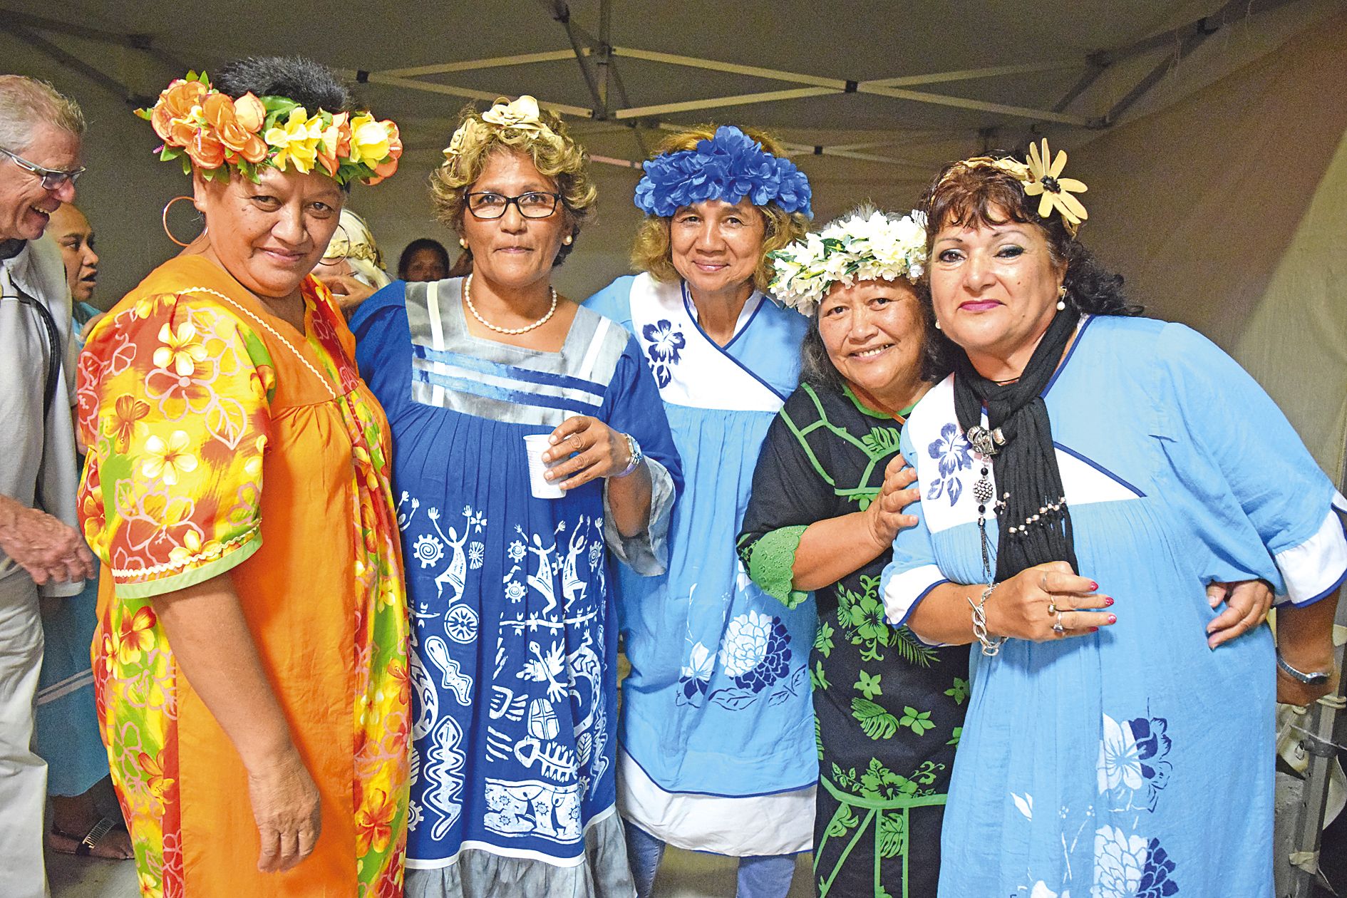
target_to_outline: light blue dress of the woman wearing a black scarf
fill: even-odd
[[[1268,898],[1272,634],[1208,649],[1206,587],[1329,595],[1347,505],[1258,384],[1183,324],[1086,319],[1044,400],[1079,572],[1118,622],[974,648],[940,895]],[[955,420],[947,378],[902,429],[921,522],[884,574],[890,622],[939,583],[983,582],[982,459]]]

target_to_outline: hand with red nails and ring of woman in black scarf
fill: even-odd
[[[1020,571],[987,598],[987,631],[991,635],[1047,642],[1086,635],[1118,621],[1113,599],[1098,592],[1090,578],[1078,576],[1065,561],[1048,561]],[[1060,621],[1061,631],[1053,630]]]

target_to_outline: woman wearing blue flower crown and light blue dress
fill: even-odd
[[[744,898],[784,895],[814,821],[815,615],[754,586],[734,540],[762,438],[799,384],[808,322],[762,291],[766,253],[804,234],[810,184],[766,135],[703,127],[659,145],[636,205],[645,273],[586,304],[636,335],[688,483],[668,574],[620,574],[632,673],[618,782],[637,894],[667,843],[740,858]]]

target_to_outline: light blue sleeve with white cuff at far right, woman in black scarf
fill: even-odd
[[[1158,434],[1195,499],[1196,525],[1228,569],[1281,580],[1278,602],[1309,605],[1347,578],[1347,501],[1272,397],[1215,343],[1167,324],[1157,345]],[[1269,564],[1269,561],[1272,564]]]

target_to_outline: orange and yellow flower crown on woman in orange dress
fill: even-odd
[[[228,180],[230,168],[257,180],[257,170],[271,166],[319,171],[338,184],[377,184],[397,171],[403,155],[397,125],[387,118],[326,109],[310,114],[288,97],[245,93],[234,100],[211,88],[205,71],[189,71],[152,109],[136,114],[163,139],[160,159],[182,159],[185,174],[195,163],[207,180]]]

